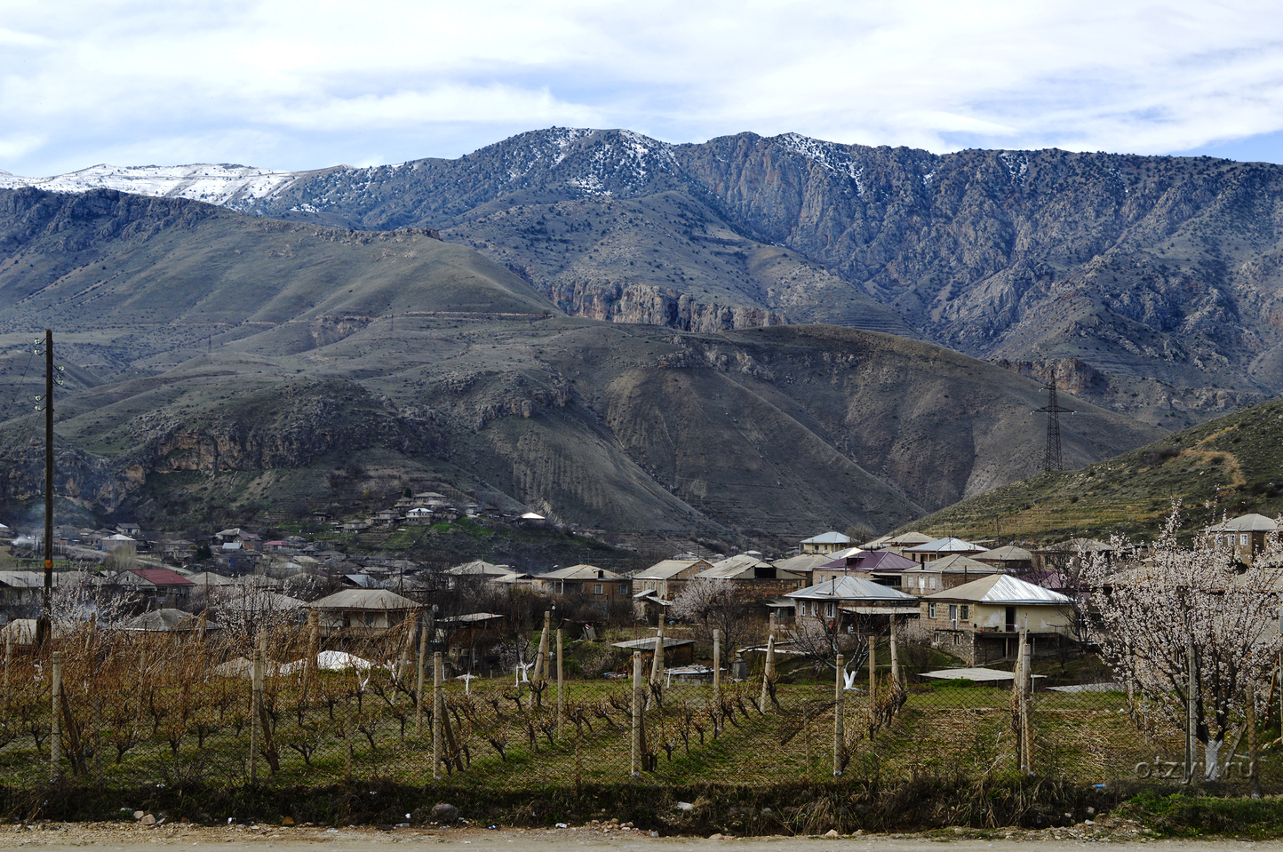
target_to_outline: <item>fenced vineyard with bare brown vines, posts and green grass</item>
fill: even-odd
[[[701,648],[712,665],[674,669],[675,651],[571,640],[545,621],[535,636],[500,643],[522,662],[472,676],[452,667],[429,633],[411,621],[345,631],[322,648],[308,625],[249,643],[82,625],[38,649],[8,644],[0,784],[60,776],[106,789],[316,788],[382,779],[520,792],[931,772],[1037,772],[1089,785],[1183,783],[1191,774],[1182,720],[1109,684],[1042,685],[1083,680],[1085,653],[1039,660],[1026,643],[1014,681],[985,685],[924,677],[929,656],[910,660],[901,643],[897,657],[890,636],[866,645],[872,653],[862,652],[858,667],[839,660],[834,669],[789,653],[788,631],[774,629],[751,663],[715,639]],[[694,645],[683,647],[695,657]],[[603,657],[607,676],[585,674],[586,660]],[[1262,787],[1280,785],[1277,744],[1257,749],[1277,739],[1277,721],[1250,721],[1223,749],[1227,774],[1242,780],[1255,766]]]

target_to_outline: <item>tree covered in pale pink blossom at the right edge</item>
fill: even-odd
[[[1193,653],[1194,734],[1205,748],[1205,774],[1220,776],[1218,753],[1227,734],[1245,724],[1248,683],[1265,684],[1283,649],[1274,626],[1283,589],[1283,543],[1273,534],[1253,567],[1238,570],[1233,549],[1219,536],[1198,535],[1192,547],[1177,540],[1179,506],[1173,508],[1151,556],[1110,565],[1087,557],[1091,586],[1089,638],[1123,677],[1185,728],[1189,654]],[[1115,539],[1116,552],[1129,543]],[[1264,701],[1268,689],[1257,689]]]

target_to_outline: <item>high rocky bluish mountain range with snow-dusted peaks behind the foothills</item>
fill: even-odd
[[[1039,381],[1055,371],[1170,430],[1283,390],[1280,168],[554,127],[384,167],[95,167],[0,185],[434,228],[571,316],[885,331]]]

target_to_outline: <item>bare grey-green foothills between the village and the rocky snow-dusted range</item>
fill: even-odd
[[[681,235],[686,201],[662,201],[633,218],[666,214]],[[1044,395],[1014,370],[837,326],[566,316],[534,276],[444,236],[0,191],[0,502],[41,485],[41,327],[68,364],[59,493],[144,522],[436,488],[633,539],[779,541],[885,529],[1038,467]],[[829,275],[760,250],[775,259],[745,268]],[[1075,464],[1162,434],[1075,405]]]

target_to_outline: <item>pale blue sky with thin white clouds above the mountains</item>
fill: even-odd
[[[0,0],[0,169],[307,169],[548,127],[1283,162],[1275,4]]]

